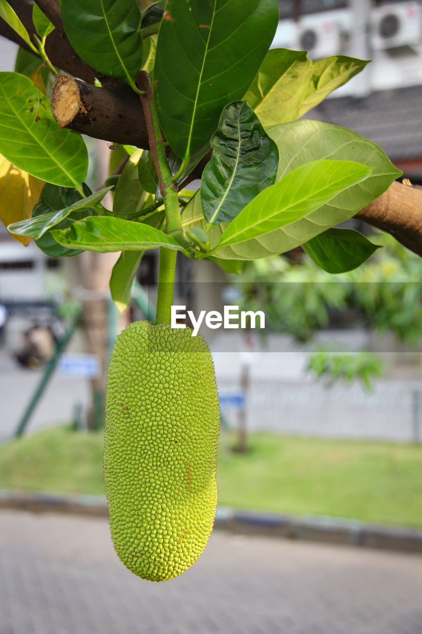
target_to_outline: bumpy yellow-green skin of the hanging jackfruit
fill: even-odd
[[[219,399],[205,341],[131,323],[107,377],[104,475],[110,529],[132,573],[166,581],[207,545],[217,505]]]

